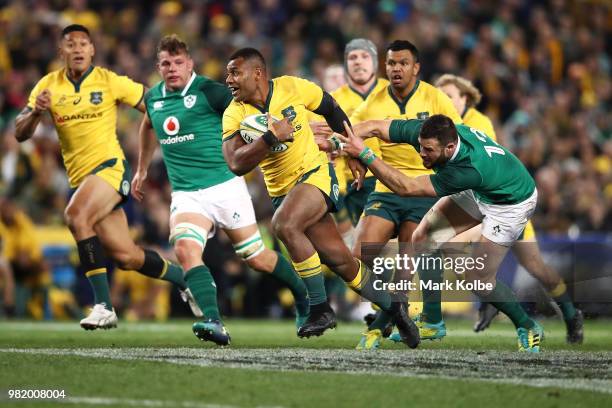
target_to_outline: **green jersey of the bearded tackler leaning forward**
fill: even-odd
[[[409,143],[420,151],[423,120],[394,120],[389,137],[394,143]],[[488,204],[517,204],[533,194],[535,182],[523,163],[482,131],[455,125],[458,149],[446,163],[432,170],[431,184],[438,196],[472,190]]]

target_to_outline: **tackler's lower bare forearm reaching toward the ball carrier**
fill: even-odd
[[[361,138],[354,135],[350,126],[344,124],[348,137],[338,137],[345,143],[344,151],[351,157],[359,159],[365,164],[385,186],[403,197],[436,197],[436,191],[431,184],[429,176],[408,177],[394,167],[389,166],[376,157]]]

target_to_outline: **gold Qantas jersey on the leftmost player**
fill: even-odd
[[[50,113],[72,188],[101,163],[124,159],[116,133],[117,106],[137,106],[144,96],[142,84],[93,66],[74,82],[60,69],[36,84],[28,99],[30,109],[45,89],[51,93]]]

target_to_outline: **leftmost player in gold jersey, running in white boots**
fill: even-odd
[[[125,76],[94,67],[94,45],[81,25],[64,28],[59,45],[64,67],[43,77],[15,119],[15,137],[34,134],[46,112],[57,130],[62,157],[74,194],[64,217],[72,232],[81,266],[94,291],[95,305],[81,327],[117,326],[106,270],[106,254],[121,268],[175,283],[194,314],[201,311],[186,291],[183,271],[157,252],[137,246],[121,204],[130,194],[130,170],[117,140],[117,105],[144,111],[144,86]]]

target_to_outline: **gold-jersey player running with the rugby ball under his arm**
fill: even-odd
[[[374,274],[351,255],[330,215],[336,208],[338,184],[333,167],[314,141],[307,111],[322,115],[336,132],[343,131],[344,111],[310,81],[292,76],[268,80],[265,60],[253,48],[243,48],[230,57],[226,83],[234,101],[223,115],[223,153],[236,174],[258,165],[263,170],[276,208],[274,232],[308,289],[310,316],[298,329],[298,336],[318,336],[336,326],[321,274],[323,262],[352,289],[389,311],[403,341],[416,347],[418,329],[408,319],[405,305],[394,304],[386,292],[374,292]],[[268,131],[246,144],[240,137],[241,122],[264,113],[269,117]]]

